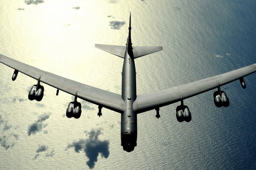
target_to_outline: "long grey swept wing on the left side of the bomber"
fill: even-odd
[[[38,80],[38,78],[41,77],[40,82],[44,82],[45,84],[67,92],[68,94],[75,95],[77,91],[77,97],[80,99],[96,105],[101,105],[102,107],[108,108],[112,111],[122,113],[123,108],[125,107],[125,103],[119,94],[94,88],[92,86],[43,71],[2,54],[0,54],[0,62],[34,79]]]

